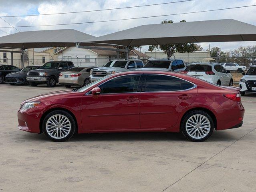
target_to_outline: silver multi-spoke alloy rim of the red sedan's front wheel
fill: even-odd
[[[46,122],[46,131],[54,139],[65,138],[71,131],[71,122],[64,115],[53,115]]]

